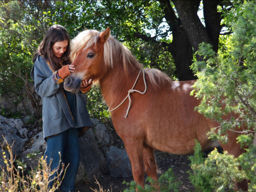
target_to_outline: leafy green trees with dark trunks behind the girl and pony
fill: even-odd
[[[46,30],[56,23],[65,26],[72,38],[86,28],[111,27],[112,35],[145,67],[159,68],[173,79],[195,79],[189,68],[194,52],[201,42],[219,49],[220,31],[226,26],[222,11],[228,12],[232,2],[0,1],[0,94],[26,97],[22,87],[31,81],[32,56]],[[197,15],[200,10],[204,25]]]

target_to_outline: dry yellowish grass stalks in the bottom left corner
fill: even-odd
[[[41,157],[39,159],[38,168],[36,170],[31,170],[29,175],[25,175],[23,172],[23,167],[15,167],[15,157],[12,153],[12,147],[13,145],[8,144],[4,138],[4,143],[1,144],[1,148],[3,151],[4,164],[6,167],[1,167],[1,192],[53,192],[60,187],[61,181],[63,179],[62,175],[65,176],[67,169],[64,169],[63,163],[60,165],[60,162],[56,169],[51,170],[49,168],[50,165],[47,165],[44,157]],[[6,149],[9,152],[10,158],[6,157],[6,153],[3,149]],[[56,176],[54,176],[54,174],[56,174]],[[49,188],[48,185],[51,181],[54,181],[54,184],[53,187]]]

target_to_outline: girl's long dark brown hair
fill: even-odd
[[[42,39],[42,42],[37,48],[37,53],[34,54],[33,62],[35,62],[37,56],[43,55],[44,60],[49,62],[53,70],[58,70],[58,68],[60,68],[60,61],[58,61],[58,58],[53,54],[53,45],[55,42],[65,40],[68,41],[68,46],[67,50],[62,55],[63,65],[70,64],[70,36],[65,27],[61,25],[53,25],[47,30],[44,39]]]

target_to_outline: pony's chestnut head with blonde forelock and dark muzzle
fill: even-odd
[[[79,91],[84,79],[98,80],[106,68],[104,60],[104,44],[110,36],[110,28],[103,32],[85,30],[72,40],[71,59],[75,67],[74,73],[64,80],[67,91]]]

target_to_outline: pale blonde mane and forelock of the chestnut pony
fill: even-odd
[[[89,48],[96,44],[98,37],[101,32],[97,30],[84,30],[80,32],[71,43],[71,54],[70,59],[74,61],[75,55],[78,51],[83,48]],[[126,72],[127,65],[131,65],[134,68],[142,69],[143,65],[132,55],[131,51],[121,44],[117,39],[110,35],[104,44],[104,61],[109,67],[113,67],[114,62],[121,59]],[[160,70],[153,68],[146,68],[146,74],[150,78],[154,87],[158,87],[163,82],[170,82],[171,79]]]

